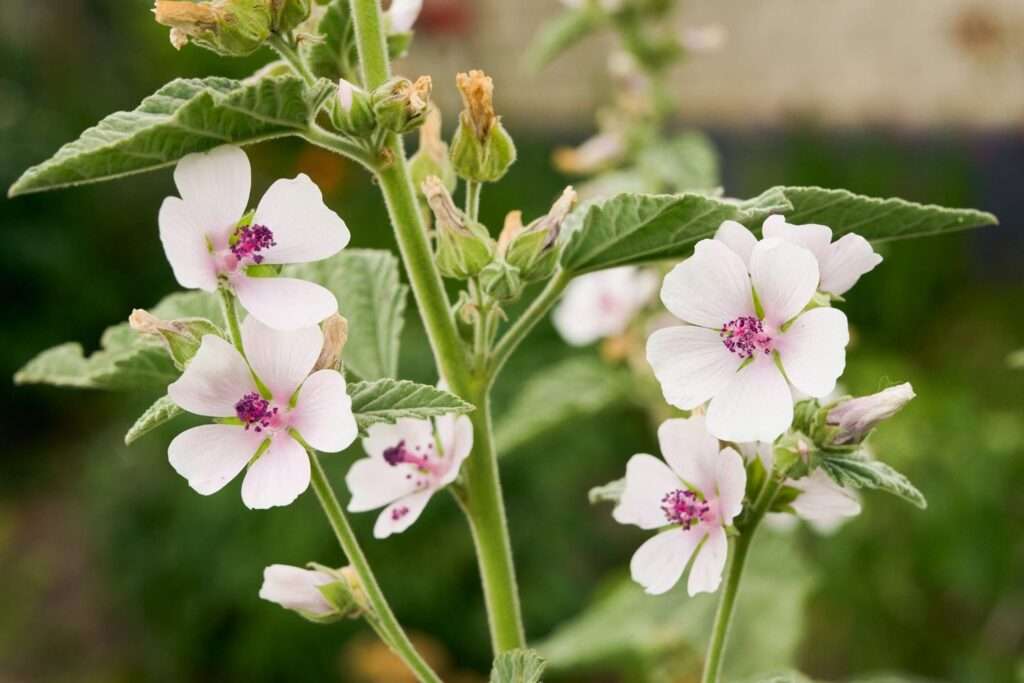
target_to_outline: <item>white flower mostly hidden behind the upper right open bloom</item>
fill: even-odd
[[[831,229],[824,225],[791,225],[778,215],[765,218],[761,230],[766,240],[777,238],[814,254],[821,279],[818,289],[827,294],[842,296],[862,274],[882,262],[870,243],[853,232],[833,242]],[[727,220],[718,228],[715,239],[727,244],[750,265],[751,253],[758,242],[753,232]]]

